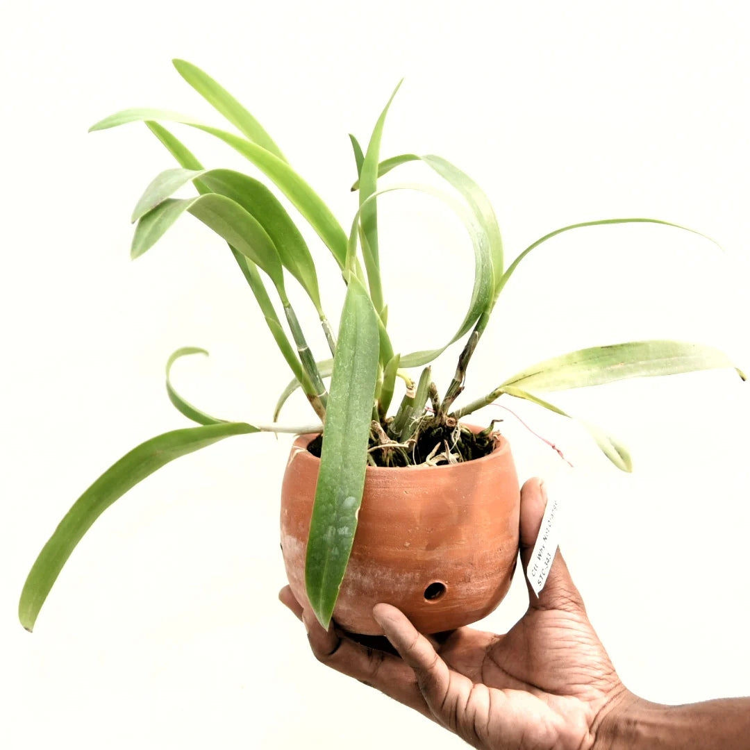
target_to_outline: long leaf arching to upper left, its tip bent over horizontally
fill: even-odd
[[[222,140],[227,145],[239,151],[245,158],[264,172],[292,202],[295,208],[305,217],[318,236],[323,239],[335,257],[338,265],[343,269],[347,256],[347,236],[341,224],[338,223],[323,199],[308,185],[305,180],[292,169],[287,162],[281,160],[266,148],[251,142],[242,136],[228,133],[217,127],[210,127],[199,123],[193,118],[166,110],[133,109],[122,110],[110,117],[95,123],[92,130],[107,130],[109,127],[126,124],[128,122],[166,120],[190,125],[205,133]]]

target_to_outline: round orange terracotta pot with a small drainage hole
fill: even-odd
[[[297,600],[320,459],[293,445],[281,488],[281,548]],[[508,592],[518,551],[520,492],[508,441],[451,466],[368,466],[347,574],[334,610],[344,630],[380,635],[379,601],[435,633],[489,614]]]

